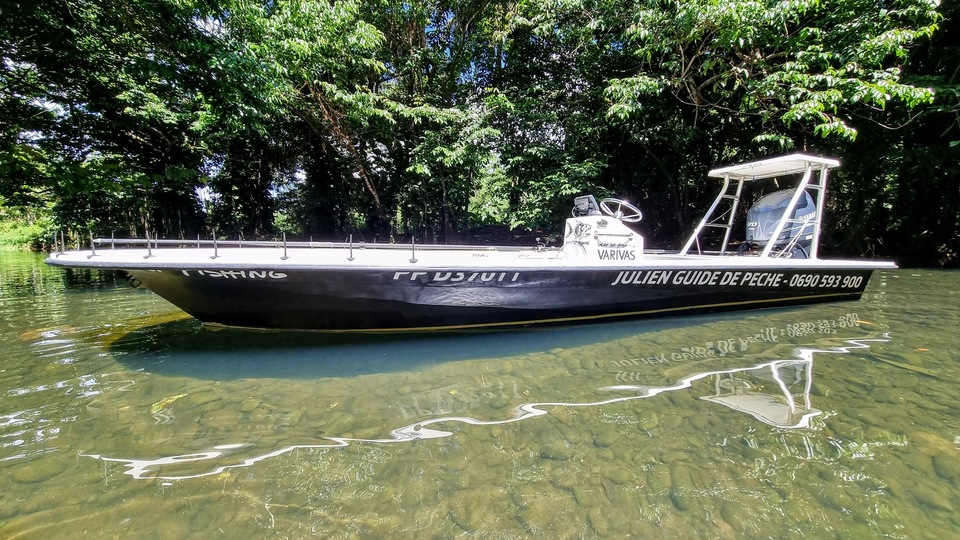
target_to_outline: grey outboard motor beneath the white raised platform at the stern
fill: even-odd
[[[769,193],[747,211],[747,241],[740,245],[739,254],[762,249],[772,240],[774,229],[783,218],[783,213],[790,204],[790,198],[793,197],[793,194],[793,189],[783,189]],[[813,197],[804,191],[800,200],[797,201],[797,207],[794,208],[793,215],[789,218],[803,223],[788,223],[781,232],[780,238],[774,241],[775,246],[785,247],[794,243],[792,256],[806,258],[810,252],[810,243],[813,240],[812,229],[806,226],[806,222],[816,219],[816,217],[817,206],[813,202]],[[803,234],[802,237],[796,238],[801,234]],[[796,241],[794,241],[794,238],[796,238]]]

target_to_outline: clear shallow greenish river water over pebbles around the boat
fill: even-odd
[[[951,537],[958,291],[343,337],[0,253],[0,536]]]

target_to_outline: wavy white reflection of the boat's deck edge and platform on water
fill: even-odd
[[[652,399],[670,392],[691,391],[701,393],[699,399],[704,402],[722,405],[734,411],[742,412],[757,421],[778,429],[809,428],[811,419],[821,414],[814,408],[811,399],[813,388],[813,362],[816,354],[844,354],[855,349],[869,349],[874,343],[889,342],[887,334],[868,335],[863,338],[842,339],[835,336],[826,341],[818,339],[818,344],[829,345],[800,346],[793,349],[790,358],[757,362],[757,356],[736,355],[725,358],[711,358],[703,362],[693,362],[677,366],[686,374],[672,379],[673,382],[661,385],[618,384],[612,386],[594,386],[593,390],[584,390],[572,399],[540,400],[519,403],[513,408],[513,414],[507,418],[493,419],[489,413],[448,409],[447,412],[429,413],[420,419],[398,425],[384,437],[351,437],[336,434],[323,435],[315,442],[283,446],[265,451],[263,440],[221,440],[222,444],[210,445],[208,450],[152,459],[112,457],[101,454],[84,454],[104,462],[121,464],[124,474],[137,479],[185,480],[218,475],[233,469],[251,467],[257,463],[290,454],[298,450],[316,450],[343,448],[352,445],[396,445],[418,440],[440,439],[453,436],[469,437],[468,426],[500,426],[515,424],[537,417],[557,414],[560,409],[584,409],[602,407],[617,403]],[[633,343],[636,343],[635,341]],[[780,343],[768,353],[783,351]],[[765,353],[766,354],[766,353]],[[767,356],[769,358],[769,356]],[[633,360],[630,360],[633,361]],[[491,360],[490,362],[496,362]],[[749,365],[744,366],[744,363]],[[739,364],[731,367],[731,364]],[[713,367],[715,369],[709,369]],[[656,371],[651,368],[649,371]],[[655,377],[669,377],[673,368],[662,371]],[[637,379],[634,379],[637,380]],[[569,381],[568,381],[569,382]],[[579,384],[579,383],[578,383]],[[561,390],[562,391],[562,390]],[[452,392],[451,392],[452,393]],[[515,394],[525,401],[528,394]],[[546,396],[544,396],[546,397]],[[369,396],[368,396],[369,398]],[[528,399],[528,398],[527,398]],[[660,402],[670,407],[668,402]],[[656,406],[656,405],[655,405]],[[459,413],[459,414],[457,414]],[[485,417],[486,416],[486,417]],[[362,419],[361,419],[362,420]],[[535,420],[534,420],[535,421]],[[401,420],[402,422],[402,420]],[[399,423],[399,422],[398,422]],[[390,426],[384,426],[390,429]],[[237,438],[243,438],[237,437]]]

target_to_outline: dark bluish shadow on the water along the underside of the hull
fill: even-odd
[[[786,311],[778,309],[767,313]],[[250,330],[206,326],[194,319],[180,319],[128,332],[111,344],[110,352],[130,369],[169,376],[212,380],[352,377],[589,346],[738,317],[743,315],[426,334]]]

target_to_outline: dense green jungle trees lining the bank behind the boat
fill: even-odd
[[[826,253],[960,264],[954,0],[2,0],[0,238],[469,241],[839,157]],[[479,229],[478,229],[479,228]]]

